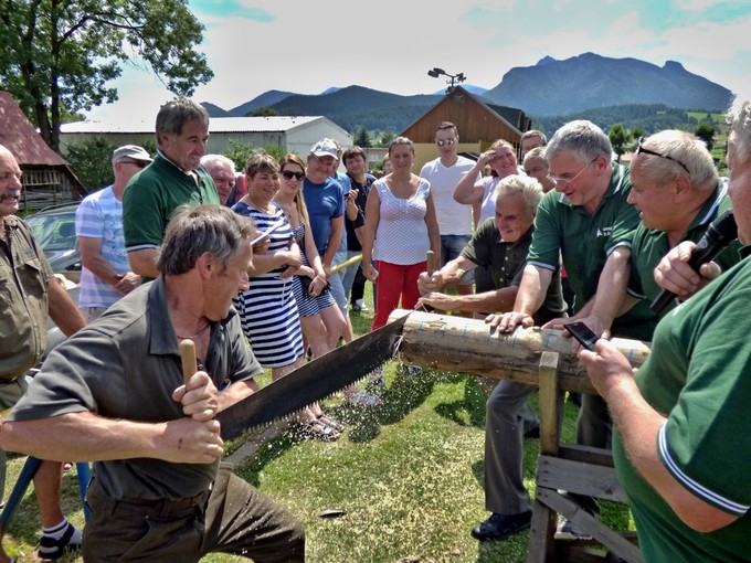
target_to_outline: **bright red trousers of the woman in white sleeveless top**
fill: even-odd
[[[376,330],[384,326],[389,320],[389,315],[399,307],[399,299],[402,300],[402,309],[414,309],[420,299],[417,289],[417,277],[427,269],[425,262],[401,266],[389,262],[376,262],[378,287],[376,316],[370,330]]]

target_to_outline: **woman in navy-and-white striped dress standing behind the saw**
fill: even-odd
[[[293,289],[294,274],[303,265],[299,246],[282,208],[273,201],[279,189],[279,166],[271,156],[253,155],[245,166],[247,194],[235,213],[251,217],[258,231],[268,232],[268,249],[253,256],[250,287],[235,297],[243,331],[253,353],[277,380],[304,363],[303,332]],[[318,405],[299,415],[310,437],[336,439],[340,427],[321,419]]]

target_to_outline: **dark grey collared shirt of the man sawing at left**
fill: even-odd
[[[211,322],[207,358],[214,385],[263,372],[230,310]],[[99,319],[55,348],[11,419],[50,418],[93,412],[106,418],[157,423],[184,417],[172,392],[182,385],[178,338],[170,322],[167,290],[160,277],[117,301]],[[219,460],[174,464],[152,458],[94,464],[96,479],[112,499],[179,499],[208,490]]]

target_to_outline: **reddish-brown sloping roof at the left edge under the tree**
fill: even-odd
[[[67,167],[63,157],[44,142],[8,92],[0,92],[0,145],[10,150],[21,166]]]

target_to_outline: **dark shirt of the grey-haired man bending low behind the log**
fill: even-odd
[[[518,287],[527,264],[527,253],[532,243],[533,231],[532,226],[516,243],[507,243],[500,235],[495,219],[488,219],[477,227],[461,255],[486,268],[490,273],[496,289]],[[548,287],[544,302],[533,316],[535,323],[540,326],[550,319],[562,317],[564,310],[560,268],[557,268]]]

